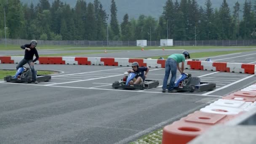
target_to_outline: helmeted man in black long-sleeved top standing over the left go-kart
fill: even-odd
[[[36,80],[36,73],[34,69],[34,62],[39,59],[37,49],[35,48],[36,46],[37,46],[36,40],[31,40],[30,44],[21,45],[21,48],[25,50],[25,55],[24,55],[24,59],[22,59],[19,62],[16,69],[19,69],[19,67],[22,67],[26,63],[29,64],[29,67],[32,71],[32,80],[35,81],[35,83],[38,83]],[[34,55],[36,58],[33,60]]]

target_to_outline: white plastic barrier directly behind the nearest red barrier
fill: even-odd
[[[243,112],[243,109],[208,105],[200,109],[200,112],[208,112],[208,113],[223,114],[223,115],[237,115],[240,112]]]

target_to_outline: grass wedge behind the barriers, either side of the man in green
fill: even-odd
[[[256,51],[256,50],[239,50],[239,51],[211,51],[211,52],[201,52],[201,53],[190,53],[190,59],[196,59],[196,58],[203,58],[203,57],[211,57],[211,56],[219,56],[224,54],[230,54],[230,53],[240,53],[245,51]],[[167,59],[170,55],[165,56],[152,56],[152,57],[144,57],[144,58],[151,58],[151,59],[158,59],[160,57],[163,57],[164,59]],[[143,59],[143,58],[141,58]]]

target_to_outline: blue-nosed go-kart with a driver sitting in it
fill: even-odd
[[[119,81],[115,81],[112,84],[112,88],[124,88],[124,89],[148,89],[148,88],[156,88],[159,85],[158,80],[148,80],[145,79],[144,82],[139,84],[133,84],[132,80],[137,76],[136,72],[125,72],[123,79]]]

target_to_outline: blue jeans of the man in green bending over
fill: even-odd
[[[165,61],[165,78],[163,79],[163,90],[167,88],[167,82],[171,71],[171,80],[170,80],[170,87],[168,90],[174,89],[174,83],[176,80],[176,73],[177,73],[177,63],[174,59],[168,58]]]

